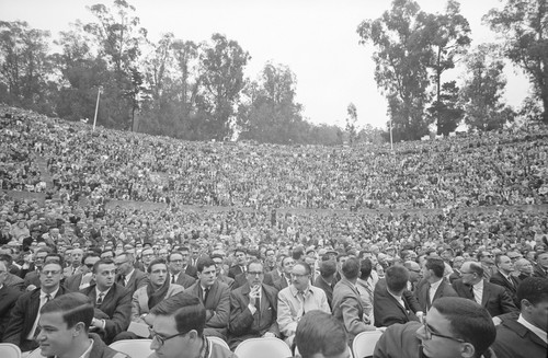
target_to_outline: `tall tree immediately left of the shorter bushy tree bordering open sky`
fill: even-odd
[[[201,111],[208,114],[204,130],[210,139],[226,140],[232,136],[235,114],[246,81],[243,69],[250,56],[236,41],[214,34],[199,56]]]

